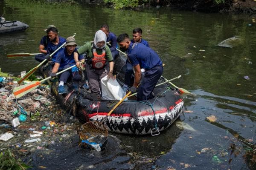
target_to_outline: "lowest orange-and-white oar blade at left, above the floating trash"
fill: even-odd
[[[15,98],[20,98],[21,96],[31,92],[33,89],[36,89],[40,84],[40,81],[32,81],[28,84],[16,87],[12,92],[15,95]]]

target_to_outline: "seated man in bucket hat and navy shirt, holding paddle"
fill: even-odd
[[[82,55],[78,56],[78,53],[76,52],[76,40],[74,37],[67,37],[67,43],[65,44],[65,49],[61,51],[55,61],[55,64],[52,68],[51,77],[56,76],[57,71],[61,71],[63,69],[67,69],[70,66],[75,65],[76,63],[79,63],[79,61],[84,62],[84,57]],[[75,58],[77,58],[77,61],[75,61]],[[79,60],[79,61],[78,61]],[[72,80],[79,81],[81,76],[79,75],[79,69],[75,66],[71,70],[67,70],[66,72],[63,72],[59,79],[59,86],[58,86],[58,93],[60,95],[67,93],[64,84],[67,83],[67,80],[69,78],[72,78]]]

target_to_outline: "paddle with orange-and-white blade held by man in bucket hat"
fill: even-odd
[[[61,72],[58,72],[56,75],[59,75],[69,69],[72,69],[75,66],[76,65],[73,65],[67,69],[64,69]],[[26,95],[27,93],[31,92],[33,89],[36,89],[42,82],[47,81],[50,78],[52,78],[52,77],[49,76],[41,81],[32,81],[28,84],[24,84],[22,86],[16,87],[15,89],[13,89],[13,94],[15,95],[15,98],[20,98],[21,96]]]

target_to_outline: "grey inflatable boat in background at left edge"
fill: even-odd
[[[0,34],[8,32],[23,31],[29,28],[29,25],[20,21],[6,21],[3,17],[0,20]]]

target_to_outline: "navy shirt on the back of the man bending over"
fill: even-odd
[[[144,69],[151,69],[163,64],[157,53],[142,43],[130,43],[128,58],[132,66],[140,64],[140,67]]]

